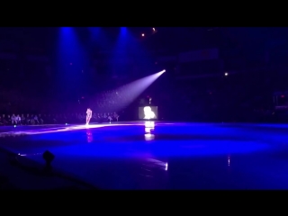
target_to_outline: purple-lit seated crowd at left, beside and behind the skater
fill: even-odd
[[[112,92],[103,92],[97,94],[99,97],[94,97],[91,108],[93,109],[93,117],[90,122],[101,123],[118,121],[119,114],[113,110],[119,110],[119,101],[116,104],[116,99],[112,100]],[[116,93],[115,93],[116,94]],[[118,93],[117,93],[118,94]],[[37,124],[65,124],[85,123],[84,104],[67,104],[55,102],[36,101],[31,98],[25,98],[16,92],[2,92],[3,99],[0,101],[0,125],[37,125]],[[21,100],[17,100],[21,98]],[[26,103],[23,103],[25,101]],[[65,109],[65,106],[71,109]],[[66,111],[65,113],[53,113],[55,107],[59,110]],[[23,113],[23,111],[28,111]],[[37,113],[36,111],[40,112]],[[33,112],[33,113],[31,113]],[[43,114],[41,114],[43,113]]]

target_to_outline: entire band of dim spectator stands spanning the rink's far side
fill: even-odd
[[[222,77],[176,80],[171,76],[170,80],[166,80],[168,87],[157,85],[149,94],[153,97],[151,105],[158,106],[159,120],[166,121],[288,120],[288,114],[279,115],[275,112],[272,99],[276,91],[277,94],[285,94],[285,86],[282,86],[282,91],[278,91],[276,87],[279,86],[272,85],[267,77],[261,76],[261,72],[254,77],[257,78],[248,73],[236,73]],[[132,112],[125,107],[130,94],[124,89],[125,85],[117,90],[103,91],[90,96],[90,100],[86,103],[89,103],[93,110],[91,122],[119,121],[119,112],[124,110],[126,112],[121,114],[121,121],[127,121],[129,119],[127,116],[132,116]],[[140,97],[151,98],[146,93]],[[143,100],[140,101],[143,103]],[[0,125],[85,123],[86,103],[53,102],[32,96],[29,98],[15,91],[1,91]],[[149,101],[147,99],[146,104],[150,103],[151,99]],[[138,109],[137,105],[143,104],[134,103],[132,107],[134,111]],[[55,113],[56,108],[62,113]],[[136,116],[133,118],[136,120]]]

